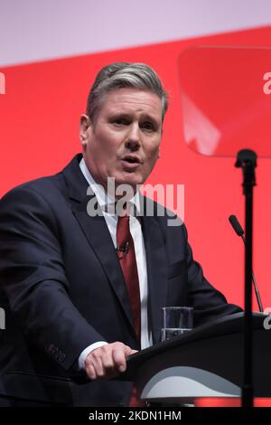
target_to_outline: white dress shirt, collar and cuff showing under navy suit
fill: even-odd
[[[110,197],[105,191],[95,182],[92,175],[89,172],[89,169],[84,161],[84,158],[81,159],[79,163],[81,172],[87,179],[89,186],[97,197],[98,204],[101,207],[102,213],[107,222],[107,228],[110,232],[112,241],[115,248],[117,248],[117,215],[112,213],[107,213],[103,206],[115,203],[116,200]],[[129,202],[134,203],[136,210],[140,212],[140,194],[138,192],[135,194]],[[147,311],[147,299],[148,299],[148,285],[147,285],[147,269],[146,269],[146,257],[145,257],[145,244],[143,233],[141,229],[141,224],[136,217],[130,215],[130,232],[133,237],[135,245],[135,259],[137,264],[138,280],[139,280],[139,290],[140,290],[140,302],[141,302],[141,348],[144,349],[153,344],[153,338],[148,326],[148,311]],[[98,348],[99,346],[106,345],[104,341],[99,341],[95,344],[89,345],[80,355],[79,355],[79,369],[84,368],[84,362],[87,355]]]

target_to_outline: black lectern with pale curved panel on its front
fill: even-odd
[[[269,320],[270,319],[270,320]],[[266,322],[265,322],[266,320]],[[271,317],[253,314],[255,396],[271,396]],[[163,403],[197,397],[240,397],[244,313],[221,317],[130,356],[121,379],[137,382],[141,398]]]

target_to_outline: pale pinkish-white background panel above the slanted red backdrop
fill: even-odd
[[[270,0],[0,0],[0,65],[268,24]]]

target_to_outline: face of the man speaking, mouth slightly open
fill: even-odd
[[[80,139],[86,164],[98,184],[145,183],[159,157],[161,99],[151,91],[109,91],[95,123],[81,116]]]

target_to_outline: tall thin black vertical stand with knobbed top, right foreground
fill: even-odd
[[[257,154],[249,149],[238,152],[235,164],[243,170],[243,194],[245,195],[246,247],[245,247],[245,319],[244,319],[244,384],[242,407],[253,407],[253,328],[252,328],[252,234],[253,187],[256,185],[255,168]]]

